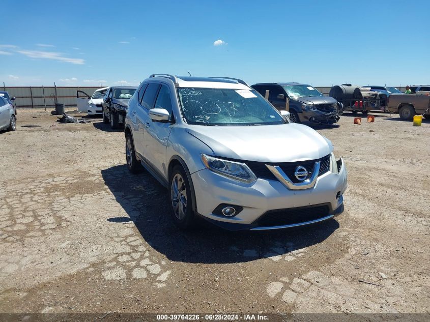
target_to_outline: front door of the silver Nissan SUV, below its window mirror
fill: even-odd
[[[170,89],[162,84],[155,101],[155,108],[164,108],[173,117]],[[149,118],[150,119],[150,118]],[[151,119],[146,124],[145,151],[150,151],[145,158],[167,178],[166,154],[167,141],[171,131],[171,123],[154,122]]]

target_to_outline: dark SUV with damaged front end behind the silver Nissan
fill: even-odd
[[[259,83],[251,86],[265,96],[269,91],[269,102],[278,110],[284,110],[289,98],[290,121],[333,124],[342,113],[340,104],[332,97],[326,97],[308,84]]]

